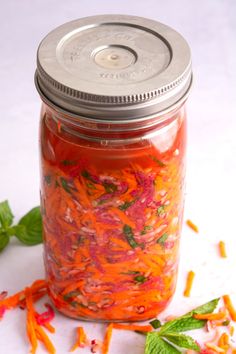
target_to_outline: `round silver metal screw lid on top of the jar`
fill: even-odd
[[[80,116],[126,121],[157,114],[185,100],[191,81],[185,39],[141,17],[68,22],[50,32],[37,53],[40,95]]]

